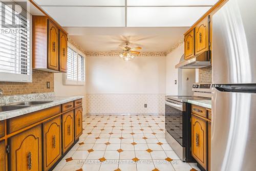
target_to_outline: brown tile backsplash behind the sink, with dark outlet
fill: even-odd
[[[32,82],[0,82],[0,89],[4,95],[54,92],[53,73],[33,69],[32,76]],[[47,81],[50,82],[50,89],[46,87]]]

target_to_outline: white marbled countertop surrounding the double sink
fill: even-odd
[[[28,108],[22,108],[22,109],[13,110],[13,111],[0,112],[0,121],[9,119],[9,118],[13,118],[13,117],[17,117],[17,116],[21,116],[21,115],[25,115],[25,114],[28,114],[31,112],[47,109],[52,106],[59,105],[62,103],[67,103],[67,102],[77,100],[77,99],[80,99],[83,97],[84,96],[79,95],[79,96],[55,96],[55,97],[47,98],[47,99],[44,98],[41,100],[51,100],[52,102],[45,103],[45,104],[39,104],[39,105],[33,105],[33,106],[29,106]],[[37,100],[40,100],[40,99],[37,99]]]

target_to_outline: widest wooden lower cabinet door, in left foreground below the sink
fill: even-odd
[[[42,170],[41,125],[11,137],[11,170]]]

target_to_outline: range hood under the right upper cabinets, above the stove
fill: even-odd
[[[210,51],[205,51],[191,59],[184,60],[177,64],[175,68],[204,68],[210,66]]]

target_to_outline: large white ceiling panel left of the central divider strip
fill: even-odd
[[[63,27],[125,27],[124,7],[42,7]]]

